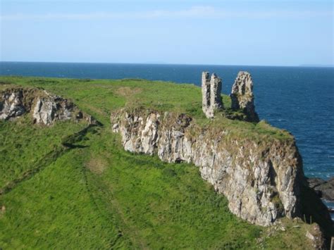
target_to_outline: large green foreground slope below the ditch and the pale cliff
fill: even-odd
[[[0,196],[4,249],[256,249],[260,239],[263,246],[309,244],[304,228],[266,237],[265,228],[236,218],[194,165],[130,154],[105,128],[81,144],[87,147],[71,149]]]

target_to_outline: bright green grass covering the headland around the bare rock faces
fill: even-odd
[[[44,87],[73,99],[104,123],[80,142],[86,147],[66,151],[52,163],[42,161],[46,165],[40,172],[0,196],[0,247],[309,248],[304,237],[309,225],[292,227],[297,223],[289,222],[285,232],[273,233],[250,225],[228,211],[226,199],[201,179],[194,165],[130,154],[110,132],[110,111],[131,96],[144,106],[188,111],[205,123],[197,87],[134,80],[0,77],[0,82]],[[258,132],[255,125],[249,127]],[[36,167],[28,161],[43,158],[61,146],[61,138],[81,128],[68,123],[37,128],[28,118],[1,122],[0,135],[6,137],[0,144],[1,185]]]

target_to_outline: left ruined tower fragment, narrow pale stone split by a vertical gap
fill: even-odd
[[[207,118],[214,117],[214,111],[223,108],[221,101],[221,78],[215,73],[202,73],[202,109]]]

